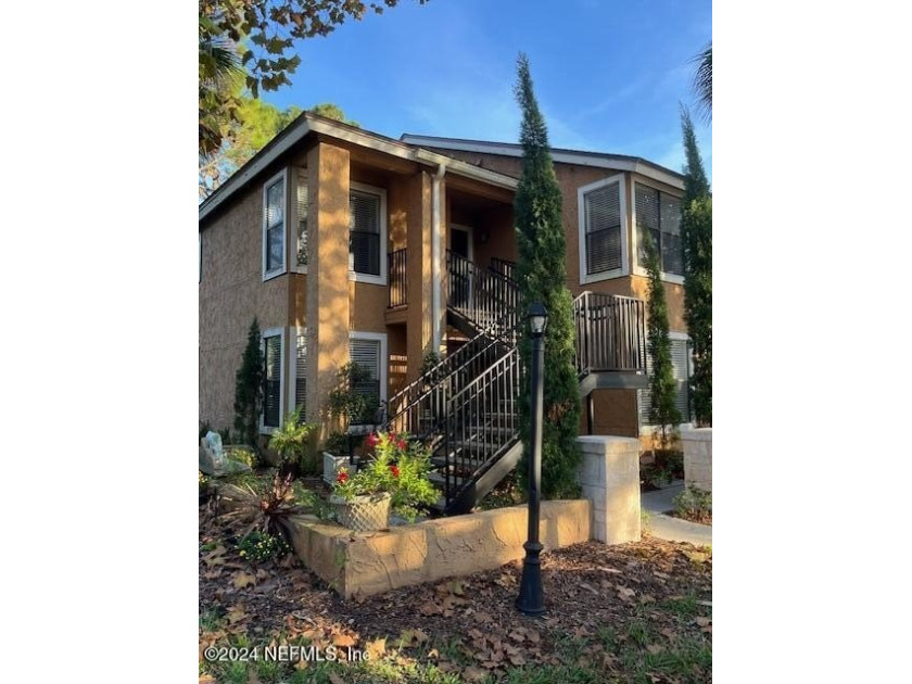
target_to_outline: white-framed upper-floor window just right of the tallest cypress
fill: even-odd
[[[579,190],[580,282],[626,275],[626,211],[623,176]]]

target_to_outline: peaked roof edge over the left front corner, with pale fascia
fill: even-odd
[[[385,138],[384,136],[379,136],[360,128],[355,128],[354,126],[349,126],[347,124],[342,124],[341,122],[335,122],[330,118],[317,116],[316,114],[311,114],[309,112],[304,112],[281,134],[276,136],[269,144],[257,152],[252,160],[244,164],[214,193],[206,198],[205,202],[200,204],[199,219],[201,221],[205,219],[210,214],[215,212],[216,208],[221,206],[232,194],[251,182],[256,176],[262,174],[289,150],[297,145],[311,132],[370,150],[376,150],[378,152],[416,162],[425,166],[434,168],[444,166],[446,167],[447,173],[465,176],[467,178],[480,180],[482,182],[497,186],[499,188],[506,188],[508,190],[516,190],[517,185],[519,183],[519,181],[512,176],[498,174],[497,172],[481,168],[460,160],[454,160],[438,152],[423,150],[420,147],[416,147],[407,142]]]

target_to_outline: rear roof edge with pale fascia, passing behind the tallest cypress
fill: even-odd
[[[438,138],[434,136],[414,136],[405,134],[401,140],[408,144],[436,148],[439,150],[454,150],[459,152],[480,152],[482,154],[498,154],[502,156],[522,156],[522,147],[510,142],[487,142],[485,140],[461,140],[458,138]],[[684,176],[654,164],[638,156],[623,154],[603,154],[600,152],[582,152],[579,150],[563,150],[552,148],[552,159],[561,164],[578,164],[580,166],[595,166],[612,170],[625,170],[639,174],[646,178],[658,180],[672,188],[684,189]]]

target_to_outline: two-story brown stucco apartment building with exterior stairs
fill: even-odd
[[[485,470],[495,452],[518,457],[503,393],[518,381],[507,328],[517,320],[521,155],[516,144],[393,140],[301,115],[200,205],[200,419],[232,425],[235,375],[255,317],[266,357],[264,434],[299,405],[322,421],[337,370],[354,360],[370,370],[398,429],[420,432],[416,416],[434,414],[443,460],[463,449]],[[647,230],[662,255],[687,415],[683,177],[617,154],[555,149],[553,157],[577,297],[581,429],[638,435],[648,411],[638,246]],[[445,360],[422,378],[430,351]],[[434,411],[430,378],[446,380]],[[458,439],[452,416],[471,427]],[[493,447],[492,433],[505,435]],[[447,487],[468,482],[466,468],[449,466],[447,479],[463,483]]]

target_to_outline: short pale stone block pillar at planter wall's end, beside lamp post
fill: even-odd
[[[592,536],[606,544],[639,541],[639,440],[577,438],[583,460],[577,479],[592,502]]]

